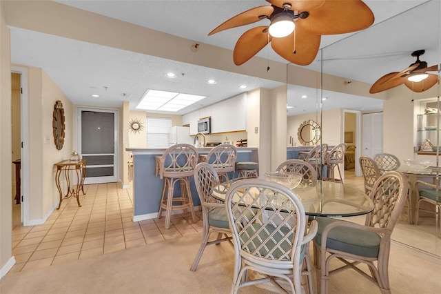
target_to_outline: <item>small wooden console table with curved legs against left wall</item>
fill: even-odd
[[[68,192],[65,197],[76,197],[76,203],[79,207],[81,207],[79,193],[80,190],[84,193],[84,179],[86,174],[85,163],[87,159],[80,159],[78,161],[74,160],[62,160],[54,164],[57,166],[57,173],[55,173],[55,184],[57,184],[58,192],[60,194],[60,203],[58,204],[57,209],[60,209],[61,202],[63,201],[63,192],[61,191],[60,186],[60,176],[61,173],[64,173],[64,177],[66,179],[66,184],[68,184]],[[70,187],[70,170],[73,170],[76,174],[76,185]]]

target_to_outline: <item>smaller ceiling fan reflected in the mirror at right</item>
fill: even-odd
[[[412,52],[412,56],[416,57],[416,61],[408,68],[400,72],[391,72],[380,77],[373,85],[369,92],[371,94],[389,90],[404,84],[413,92],[424,92],[438,82],[438,75],[430,73],[437,71],[438,66],[427,67],[426,61],[420,61],[420,56],[425,50],[416,50]]]

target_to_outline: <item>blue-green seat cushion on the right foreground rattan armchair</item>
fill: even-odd
[[[325,226],[333,222],[345,222],[328,217],[317,217],[318,231],[314,241],[321,246]],[[329,231],[326,246],[338,251],[365,257],[377,257],[381,237],[377,233],[358,228],[337,227]]]

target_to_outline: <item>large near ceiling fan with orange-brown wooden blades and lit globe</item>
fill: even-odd
[[[361,0],[266,0],[228,19],[208,35],[269,19],[269,26],[247,30],[234,47],[233,61],[240,66],[271,42],[278,55],[307,66],[316,58],[321,35],[356,32],[373,23],[373,13]]]

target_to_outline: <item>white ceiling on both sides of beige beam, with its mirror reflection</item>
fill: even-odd
[[[269,5],[267,1],[228,0],[57,2],[194,40],[195,43],[206,43],[230,50],[243,32],[264,24],[266,20],[258,25],[254,23],[233,28],[209,37],[208,32],[240,12]],[[323,61],[320,61],[319,52],[316,60],[306,68],[322,70],[331,75],[345,77],[349,81],[372,84],[382,75],[407,68],[415,61],[410,55],[414,50],[426,50],[420,59],[427,61],[429,66],[439,63],[441,1],[374,0],[365,3],[375,15],[373,26],[353,34],[322,36],[320,48]],[[43,68],[74,104],[119,107],[121,101],[130,99],[130,108],[134,109],[148,88],[207,96],[201,103],[175,113],[182,115],[238,95],[243,92],[238,89],[241,84],[246,84],[248,90],[282,85],[276,81],[20,28],[11,28],[11,51],[12,63]],[[258,56],[287,63],[270,46],[261,50]],[[163,72],[167,71],[185,75],[179,79],[166,79]],[[207,79],[216,79],[218,85],[222,86],[213,87],[200,83]],[[93,92],[101,97],[92,99],[90,95]],[[289,115],[314,112],[316,99],[300,100],[300,96],[306,94],[317,97],[317,92],[315,89],[290,85],[288,104],[296,107],[289,110]],[[126,94],[125,97],[123,93]],[[379,99],[336,92],[324,92],[323,96],[329,97],[323,102],[324,110],[382,108],[382,101]],[[101,99],[102,97],[106,99]]]

